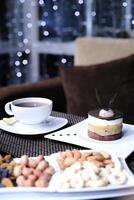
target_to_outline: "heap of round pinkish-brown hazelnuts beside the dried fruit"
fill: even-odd
[[[17,186],[47,187],[55,171],[43,155],[39,155],[36,159],[23,155],[13,172]]]

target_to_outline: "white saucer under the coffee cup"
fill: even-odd
[[[37,135],[37,134],[45,134],[51,131],[55,131],[68,123],[68,120],[60,117],[52,117],[50,116],[47,121],[35,124],[35,125],[26,125],[20,122],[16,122],[14,124],[7,124],[3,120],[0,120],[0,128],[2,130],[16,133],[20,135]]]

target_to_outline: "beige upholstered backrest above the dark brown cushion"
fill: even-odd
[[[80,37],[75,41],[75,66],[87,66],[134,54],[134,39]]]

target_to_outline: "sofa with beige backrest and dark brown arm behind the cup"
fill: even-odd
[[[125,58],[134,54],[134,39],[80,37],[75,41],[74,66],[92,66]],[[41,96],[51,98],[53,109],[68,112],[63,77],[58,76],[34,83],[23,83],[0,88],[0,117],[5,116],[4,105],[16,98]],[[88,86],[87,86],[88,87]],[[86,98],[86,96],[85,96]],[[69,111],[71,112],[71,111]],[[82,113],[73,113],[83,115]]]

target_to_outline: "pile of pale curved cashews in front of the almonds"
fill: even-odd
[[[93,163],[75,162],[58,176],[59,189],[122,185],[127,181],[124,171],[115,166],[96,167]]]

